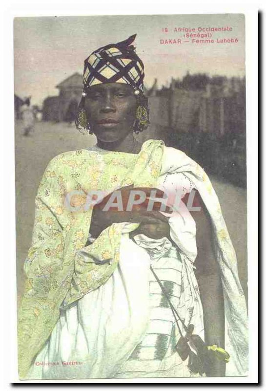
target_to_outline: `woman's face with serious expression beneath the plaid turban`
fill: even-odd
[[[102,142],[123,140],[132,132],[137,101],[127,84],[106,83],[88,89],[85,110],[97,139]]]

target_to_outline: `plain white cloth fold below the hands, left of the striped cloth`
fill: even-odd
[[[147,328],[148,275],[148,255],[124,236],[120,261],[111,277],[61,312],[28,377],[112,377],[128,359]],[[36,365],[40,362],[47,365]],[[59,365],[48,365],[51,362]],[[63,362],[80,364],[64,365]]]

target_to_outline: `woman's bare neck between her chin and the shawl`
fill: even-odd
[[[102,150],[113,152],[139,153],[142,144],[135,140],[133,133],[127,134],[123,140],[105,142],[97,139],[97,146]]]

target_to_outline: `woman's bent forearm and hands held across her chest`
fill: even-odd
[[[131,210],[127,211],[126,207],[131,190],[141,190],[145,194],[145,200],[139,205],[133,204]],[[168,217],[160,213],[161,202],[154,202],[152,210],[147,211],[151,191],[156,191],[156,197],[163,198],[164,192],[162,190],[126,186],[117,191],[121,192],[123,211],[119,211],[117,207],[110,207],[107,211],[103,210],[113,193],[106,195],[100,203],[94,205],[90,227],[90,233],[94,238],[97,238],[112,223],[120,222],[140,223],[141,226],[135,233],[144,233],[153,239],[159,239],[158,237],[163,237],[169,232]],[[169,208],[165,212],[169,212]]]

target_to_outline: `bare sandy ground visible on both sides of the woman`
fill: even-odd
[[[59,153],[86,148],[95,142],[94,136],[83,136],[74,125],[36,123],[34,132],[25,137],[22,136],[21,122],[16,123],[16,241],[19,299],[24,283],[23,261],[31,244],[34,200],[45,167]],[[221,202],[225,222],[238,257],[240,280],[247,293],[246,191],[215,178],[211,180]]]

